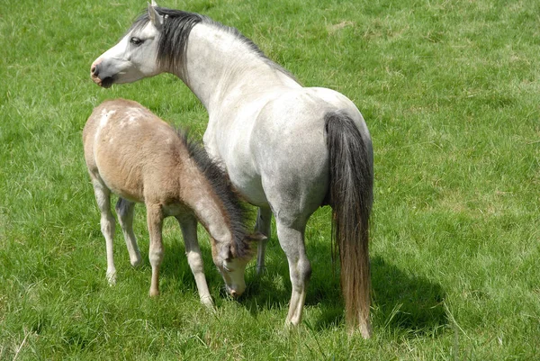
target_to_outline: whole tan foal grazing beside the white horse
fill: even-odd
[[[163,219],[174,216],[184,236],[185,253],[201,302],[212,307],[197,242],[197,220],[211,236],[211,253],[227,291],[239,296],[246,289],[244,270],[252,256],[245,212],[229,179],[201,146],[142,105],[124,99],[105,101],[94,109],[83,131],[85,161],[101,212],[107,248],[107,279],[115,282],[112,257],[114,218],[111,193],[118,194],[116,212],[132,266],[140,264],[133,234],[134,203],[145,203],[149,232],[148,257],[152,266],[150,296],[159,294],[159,266],[164,248]]]

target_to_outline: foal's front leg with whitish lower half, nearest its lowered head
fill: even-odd
[[[211,300],[208,284],[206,283],[201,248],[199,248],[199,241],[197,240],[197,220],[192,215],[176,217],[176,220],[178,220],[180,228],[182,229],[185,256],[187,257],[187,263],[195,278],[195,284],[197,284],[197,290],[199,291],[199,298],[201,299],[202,304],[213,310],[214,304]]]

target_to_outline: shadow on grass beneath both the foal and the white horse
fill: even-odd
[[[183,284],[186,292],[196,292],[193,275],[184,255],[184,245],[176,240],[169,246],[162,265],[162,275],[180,277],[176,282]],[[329,245],[312,242],[308,244],[307,250],[313,270],[305,302],[306,308],[312,313],[311,327],[330,329],[342,325],[345,320],[339,269],[334,270],[332,266]],[[206,278],[213,288],[212,285],[222,285],[223,280],[209,254],[210,249],[202,250]],[[448,324],[443,305],[446,293],[440,284],[402,270],[381,256],[371,257],[371,273],[372,323],[375,328],[434,334]],[[286,314],[291,297],[291,282],[286,257],[277,242],[271,241],[268,244],[264,274],[256,274],[255,262],[250,263],[246,274],[247,291],[238,300],[239,304],[254,318],[267,310],[284,310]],[[213,296],[218,307],[220,302],[227,299],[223,291]],[[222,301],[216,299],[218,297]]]

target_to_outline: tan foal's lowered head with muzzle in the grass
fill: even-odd
[[[266,239],[266,237],[257,232],[252,235],[247,235],[245,244],[256,242],[257,240]],[[244,250],[244,255],[238,257],[238,251],[233,249],[230,244],[218,244],[217,247],[212,247],[212,258],[214,264],[218,267],[220,274],[223,276],[223,281],[227,287],[227,293],[232,297],[239,297],[246,291],[246,281],[244,279],[244,273],[246,266],[253,252],[249,246]]]

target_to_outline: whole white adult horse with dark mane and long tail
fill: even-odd
[[[373,147],[355,104],[330,89],[302,87],[238,30],[154,2],[91,67],[103,87],[164,72],[180,77],[206,107],[205,148],[259,207],[257,230],[269,236],[275,215],[293,284],[285,323],[302,320],[311,276],[306,223],[329,204],[347,324],[368,338]],[[265,246],[258,247],[259,271]]]

